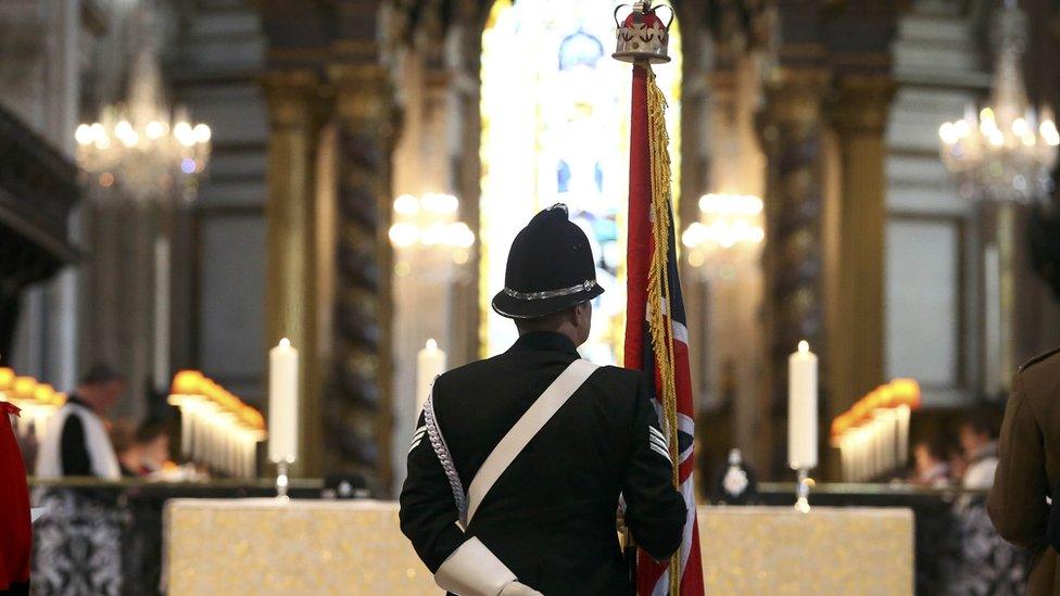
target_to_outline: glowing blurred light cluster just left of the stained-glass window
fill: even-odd
[[[416,259],[430,259],[436,254],[449,254],[452,262],[468,262],[475,232],[456,219],[460,202],[452,194],[427,193],[422,196],[402,194],[394,199],[394,224],[390,227],[390,242],[405,256],[420,249]],[[409,262],[398,264],[398,274],[407,275]]]

